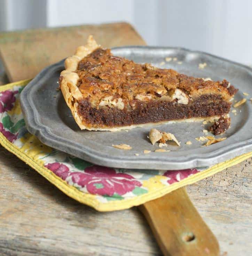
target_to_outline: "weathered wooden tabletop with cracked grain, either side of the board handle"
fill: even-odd
[[[221,255],[250,256],[252,159],[187,186]],[[137,208],[97,212],[0,148],[0,255],[161,255]]]

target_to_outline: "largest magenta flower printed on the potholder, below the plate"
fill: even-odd
[[[91,194],[112,196],[114,193],[124,195],[140,187],[141,182],[134,179],[133,176],[126,173],[116,173],[109,167],[90,166],[85,168],[85,172],[72,172],[72,181],[81,187],[87,188]]]

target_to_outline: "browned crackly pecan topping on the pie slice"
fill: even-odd
[[[79,90],[84,98],[91,97],[99,105],[104,97],[122,98],[131,101],[137,95],[149,96],[144,100],[169,97],[180,89],[190,97],[199,94],[222,95],[229,100],[234,87],[222,82],[204,81],[202,78],[179,74],[172,69],[155,68],[149,64],[137,64],[132,60],[115,57],[110,50],[98,48],[82,59],[76,70]],[[164,98],[165,99],[165,98]]]

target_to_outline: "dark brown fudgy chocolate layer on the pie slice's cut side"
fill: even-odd
[[[220,95],[202,95],[188,104],[176,101],[150,100],[134,101],[134,109],[119,110],[116,107],[94,108],[88,99],[78,102],[79,115],[86,124],[99,127],[129,126],[133,124],[179,120],[227,114],[230,103],[223,101]]]

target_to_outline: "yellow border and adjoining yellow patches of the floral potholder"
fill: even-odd
[[[20,82],[15,82],[7,85],[3,85],[0,88],[0,92],[3,92],[8,89],[13,89],[14,86],[24,86],[30,80],[24,80]],[[7,112],[8,113],[8,112]],[[26,164],[31,166],[34,170],[44,176],[49,182],[53,183],[57,188],[63,191],[66,195],[72,197],[73,199],[79,201],[80,203],[87,204],[92,206],[98,211],[114,211],[127,209],[132,206],[143,204],[147,201],[161,197],[171,191],[178,189],[180,187],[195,183],[199,180],[202,180],[208,176],[211,176],[227,167],[236,165],[241,161],[252,157],[252,152],[243,154],[241,156],[235,157],[233,159],[227,160],[223,163],[214,165],[210,168],[207,168],[204,171],[195,173],[188,176],[185,179],[182,179],[178,182],[172,183],[167,186],[167,177],[162,175],[152,175],[150,178],[142,182],[142,187],[146,189],[146,193],[134,196],[134,197],[125,197],[123,200],[115,201],[102,201],[101,198],[97,195],[90,194],[88,191],[80,190],[78,187],[69,185],[66,181],[61,179],[59,176],[54,174],[53,171],[50,171],[46,168],[45,161],[41,156],[46,155],[45,152],[50,153],[53,149],[43,145],[36,136],[29,134],[25,138],[20,140],[20,145],[13,144],[2,133],[0,133],[0,143],[8,151],[12,152],[18,158],[23,160]],[[42,148],[39,151],[40,147]],[[63,153],[65,154],[65,153]],[[137,173],[137,171],[134,171]],[[146,171],[146,173],[148,173]]]

